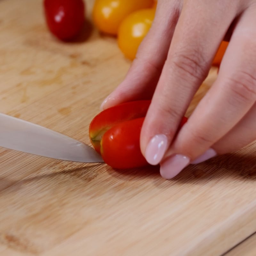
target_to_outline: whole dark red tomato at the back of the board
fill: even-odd
[[[44,0],[44,14],[49,30],[60,40],[77,36],[85,21],[83,0]]]

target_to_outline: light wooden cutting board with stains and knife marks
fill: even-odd
[[[0,112],[84,143],[131,62],[91,22],[52,37],[42,1],[0,1]],[[187,115],[216,79],[212,68]],[[256,145],[188,166],[113,170],[0,149],[0,254],[221,255],[256,231]]]

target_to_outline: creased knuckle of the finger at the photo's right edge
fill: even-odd
[[[235,76],[229,77],[228,84],[236,103],[256,100],[256,76],[239,71]]]

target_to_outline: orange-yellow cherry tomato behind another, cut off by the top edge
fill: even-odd
[[[130,13],[150,8],[154,0],[95,0],[92,18],[98,29],[116,35],[122,20]]]

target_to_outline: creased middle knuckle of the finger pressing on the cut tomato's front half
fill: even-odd
[[[178,52],[171,56],[173,70],[179,72],[180,76],[202,79],[205,76],[207,61],[200,51],[190,50]]]

